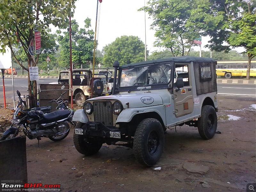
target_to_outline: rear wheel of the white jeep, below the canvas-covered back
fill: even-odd
[[[201,117],[197,126],[199,135],[203,139],[212,139],[217,129],[217,114],[211,105],[202,107]]]

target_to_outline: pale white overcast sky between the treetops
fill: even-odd
[[[147,0],[145,0],[147,3]],[[154,51],[162,51],[163,48],[154,47],[156,37],[155,31],[150,29],[152,19],[148,18],[149,15],[143,11],[138,11],[144,6],[144,0],[102,0],[99,3],[97,23],[98,33],[98,50],[111,44],[117,37],[126,36],[138,36],[143,43],[145,43],[145,29],[146,29],[146,44],[149,54]],[[95,31],[96,9],[97,0],[77,0],[74,17],[80,28],[84,27],[84,20],[88,17],[91,19],[91,25],[93,31]],[[146,27],[145,27],[146,23]],[[209,37],[202,37],[202,50],[209,51],[204,48],[207,44]],[[194,50],[199,51],[199,46],[193,47]],[[243,48],[236,48],[236,51],[242,52]]]

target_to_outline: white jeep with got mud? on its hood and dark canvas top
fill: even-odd
[[[167,128],[187,124],[211,139],[218,111],[215,66],[211,58],[189,56],[120,67],[115,61],[112,95],[86,100],[73,116],[77,151],[92,155],[103,143],[124,145],[152,166],[163,153]]]

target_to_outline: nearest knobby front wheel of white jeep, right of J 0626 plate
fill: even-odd
[[[157,119],[143,119],[135,131],[133,148],[140,164],[146,166],[156,164],[164,151],[162,124]]]

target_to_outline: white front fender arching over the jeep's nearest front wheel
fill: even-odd
[[[121,122],[130,122],[135,115],[148,112],[156,112],[162,118],[163,123],[166,125],[164,105],[148,106],[147,108],[126,108],[117,117],[116,124]]]

